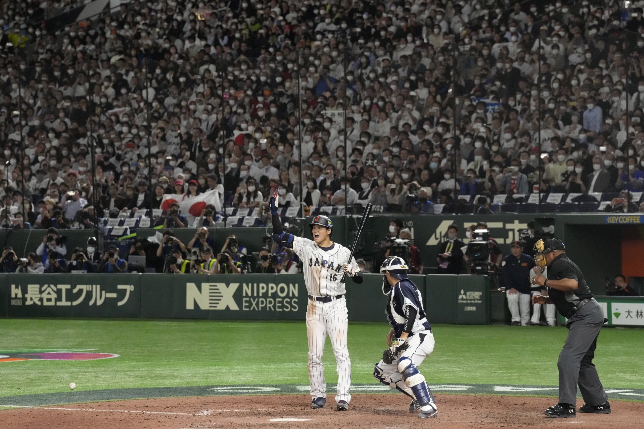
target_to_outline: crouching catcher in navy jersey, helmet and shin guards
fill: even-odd
[[[398,256],[386,258],[380,268],[383,294],[387,296],[385,312],[392,329],[387,336],[390,347],[375,364],[374,377],[411,397],[409,412],[418,411],[418,417],[424,419],[439,413],[430,387],[417,368],[434,349],[434,336],[422,307],[421,292],[409,280],[407,269]]]

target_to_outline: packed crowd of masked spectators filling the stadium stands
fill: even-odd
[[[215,189],[307,214],[644,211],[644,1],[133,1],[46,32],[70,3],[0,6],[1,227]]]

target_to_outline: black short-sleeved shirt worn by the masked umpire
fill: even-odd
[[[579,301],[593,297],[591,289],[583,279],[582,271],[565,253],[562,253],[548,265],[548,280],[563,280],[565,278],[572,278],[577,281],[579,286],[576,291],[563,292],[548,288],[550,299],[553,300],[557,310],[564,317]]]

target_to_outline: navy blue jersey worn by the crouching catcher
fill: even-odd
[[[396,283],[387,295],[387,306],[385,313],[387,321],[395,331],[396,338],[399,338],[404,329],[404,308],[411,305],[416,309],[416,319],[412,325],[412,333],[422,330],[430,330],[431,325],[425,316],[425,309],[422,307],[421,291],[409,279],[403,279]]]

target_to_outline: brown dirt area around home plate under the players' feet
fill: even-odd
[[[438,394],[439,416],[417,419],[402,394],[356,394],[349,410],[311,410],[308,395],[137,399],[0,411],[0,428],[205,429],[205,428],[641,428],[643,403],[613,401],[612,414],[548,419],[552,397]],[[578,406],[582,403],[578,403]],[[639,423],[638,423],[639,421]]]

